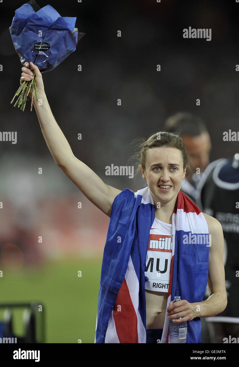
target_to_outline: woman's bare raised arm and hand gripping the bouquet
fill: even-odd
[[[109,217],[112,203],[122,190],[105,184],[94,171],[74,156],[66,137],[52,115],[44,91],[42,75],[37,66],[30,64],[30,67],[36,74],[35,81],[38,97],[38,101],[36,101],[35,95],[33,95],[33,105],[36,109],[46,144],[57,166],[63,170],[67,177],[69,177],[78,189],[81,190],[87,199]],[[31,72],[29,70],[29,63],[25,63],[25,67],[22,68],[22,71],[20,83],[30,79],[29,76]]]

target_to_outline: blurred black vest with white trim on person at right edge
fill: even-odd
[[[216,218],[223,228],[227,307],[208,318],[214,343],[239,338],[239,153],[232,159],[217,159],[208,165],[199,182],[196,203]]]

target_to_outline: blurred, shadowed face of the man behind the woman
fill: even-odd
[[[203,134],[196,137],[184,135],[183,141],[190,152],[194,172],[197,168],[200,168],[200,173],[203,172],[209,164],[209,155],[212,148],[208,132],[203,132]]]

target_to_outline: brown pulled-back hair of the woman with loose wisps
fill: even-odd
[[[187,166],[187,172],[189,171],[191,173],[191,157],[189,152],[187,151],[182,137],[179,134],[173,132],[159,131],[156,132],[156,134],[150,135],[148,139],[136,138],[134,139],[132,144],[133,143],[136,143],[137,152],[133,156],[131,156],[130,160],[135,159],[137,161],[135,174],[141,172],[141,165],[145,170],[147,150],[158,146],[179,149],[183,157],[183,169]]]

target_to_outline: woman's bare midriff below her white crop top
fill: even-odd
[[[163,329],[168,292],[145,290],[146,329]]]

